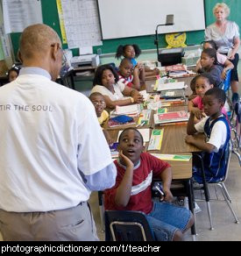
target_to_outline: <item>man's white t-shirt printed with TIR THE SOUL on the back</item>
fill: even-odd
[[[63,210],[87,201],[80,173],[112,163],[89,99],[46,76],[19,75],[0,88],[0,103],[0,209]]]

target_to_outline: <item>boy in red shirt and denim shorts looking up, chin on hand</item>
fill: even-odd
[[[145,213],[157,240],[181,240],[193,224],[192,213],[171,204],[172,170],[167,162],[143,153],[143,137],[136,128],[125,129],[119,139],[117,181],[105,190],[106,210],[139,210]],[[165,193],[164,201],[152,202],[152,177],[160,178]]]

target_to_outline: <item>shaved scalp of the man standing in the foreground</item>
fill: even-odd
[[[25,28],[20,38],[20,54],[23,60],[34,56],[45,56],[47,50],[54,43],[61,41],[58,34],[48,25],[37,24]]]

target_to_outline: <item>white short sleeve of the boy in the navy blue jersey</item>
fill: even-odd
[[[207,143],[215,146],[215,152],[218,152],[219,148],[222,147],[227,138],[227,128],[223,121],[217,121],[214,124],[210,139]]]

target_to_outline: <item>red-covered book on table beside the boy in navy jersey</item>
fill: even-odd
[[[155,124],[167,124],[173,122],[187,122],[188,112],[185,110],[154,114]]]

